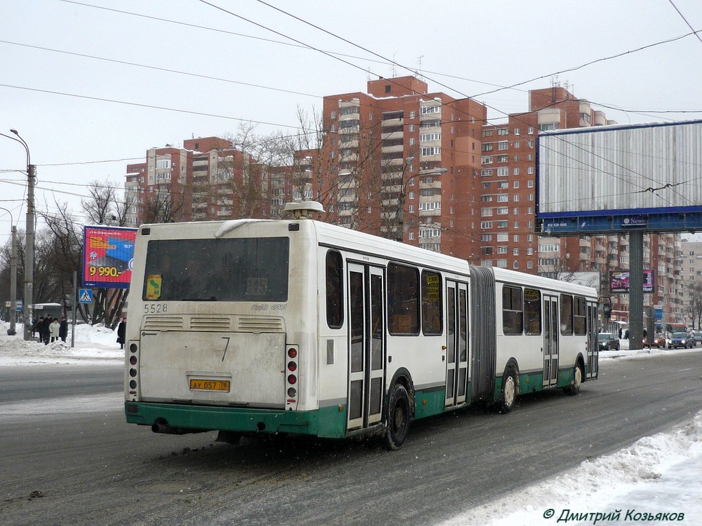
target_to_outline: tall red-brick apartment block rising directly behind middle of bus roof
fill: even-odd
[[[324,97],[317,194],[331,220],[476,260],[480,130],[474,100],[430,93],[414,76]],[[468,198],[466,198],[468,197]]]

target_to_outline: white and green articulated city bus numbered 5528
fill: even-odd
[[[597,378],[594,289],[307,217],[138,230],[127,422],[404,443],[413,419]]]

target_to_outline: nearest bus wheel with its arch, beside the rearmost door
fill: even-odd
[[[399,450],[409,434],[414,416],[414,386],[407,370],[398,370],[392,378],[385,405],[383,446],[389,451]]]

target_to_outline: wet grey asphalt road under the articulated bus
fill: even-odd
[[[702,351],[600,372],[576,397],[414,422],[404,447],[385,452],[372,441],[157,435],[124,423],[121,367],[6,367],[0,523],[430,525],[702,410]]]

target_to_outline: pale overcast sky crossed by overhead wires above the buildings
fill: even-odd
[[[496,121],[553,81],[618,123],[702,119],[702,40],[689,27],[702,29],[699,0],[269,3],[420,69],[430,90],[475,97]],[[150,147],[235,133],[240,119],[294,133],[298,106],[319,110],[323,95],[411,74],[256,0],[0,5],[0,133],[15,128],[29,144],[37,209],[50,213],[58,201],[81,216],[85,185],[122,187],[126,164]],[[21,229],[27,177],[12,170],[25,160],[0,136],[0,207]],[[9,233],[0,210],[0,243]]]

